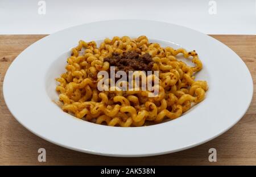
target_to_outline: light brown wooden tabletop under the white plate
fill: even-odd
[[[35,136],[9,112],[3,100],[2,85],[6,70],[15,57],[44,36],[0,35],[0,165],[256,165],[256,89],[250,108],[233,128],[212,141],[177,153],[143,158],[103,157],[65,149]],[[242,58],[256,88],[256,36],[211,36]],[[46,149],[47,162],[38,162],[40,147]],[[208,161],[208,150],[212,147],[217,149],[217,162]]]

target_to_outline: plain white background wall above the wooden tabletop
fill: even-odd
[[[38,2],[0,0],[0,34],[48,34],[109,19],[158,20],[208,34],[256,33],[255,0],[216,0],[213,15],[208,0],[45,0],[44,15],[38,13]]]

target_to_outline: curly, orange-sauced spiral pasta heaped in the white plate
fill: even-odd
[[[127,53],[137,59],[126,56]],[[183,54],[194,66],[177,60],[178,54]],[[134,86],[137,90],[122,90],[111,84],[104,85],[109,90],[98,89],[101,79],[98,73],[109,72],[113,65],[115,68],[125,68],[125,64],[120,65],[128,62],[125,57],[138,62],[126,69],[141,69],[143,66],[144,70],[153,72],[143,74],[139,70],[134,72],[133,77],[140,77],[141,74],[144,81],[156,79],[158,82],[154,82],[152,89],[158,90],[157,95],[150,96],[152,91],[142,90],[138,84]],[[144,63],[140,65],[139,62]],[[106,38],[100,47],[95,41],[86,43],[80,40],[79,45],[72,49],[67,63],[67,71],[56,79],[59,82],[56,91],[59,93],[61,108],[79,119],[96,124],[140,127],[147,123],[176,119],[203,101],[208,90],[206,81],[195,80],[195,73],[203,68],[195,50],[187,52],[182,48],[175,50],[160,47],[158,43],[150,43],[146,36],[136,39],[128,36]],[[156,71],[159,75],[154,74]],[[111,79],[109,81],[113,83]],[[127,88],[126,84],[129,83],[122,81],[119,84]]]

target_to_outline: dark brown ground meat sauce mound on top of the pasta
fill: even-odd
[[[115,66],[115,71],[151,71],[153,66],[152,57],[146,53],[141,55],[140,52],[123,52],[122,54],[113,53],[112,57],[104,58],[110,66]]]

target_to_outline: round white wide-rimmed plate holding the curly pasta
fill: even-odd
[[[196,79],[209,85],[205,100],[178,119],[136,128],[89,123],[57,107],[54,79],[65,71],[69,49],[80,39],[124,35],[196,50],[204,65]],[[7,71],[3,95],[19,123],[47,141],[91,154],[138,157],[188,149],[224,133],[249,107],[253,81],[241,58],[210,36],[163,22],[111,20],[68,28],[32,44]]]

